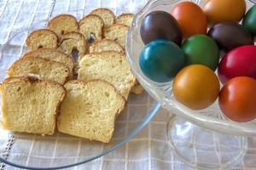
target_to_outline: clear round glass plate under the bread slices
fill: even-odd
[[[78,10],[67,14],[73,14],[79,20],[86,13],[85,10]],[[6,71],[9,66],[19,59],[20,55],[26,53],[27,34],[44,28],[47,22],[48,20],[42,20],[19,31],[0,46],[0,82],[7,77]],[[160,105],[154,104],[154,100],[146,92],[142,95],[131,94],[125,111],[122,111],[115,122],[113,138],[108,144],[80,139],[64,133],[56,132],[53,136],[43,137],[38,134],[12,133],[0,128],[0,161],[26,169],[65,168],[83,164],[117,150],[135,137],[159,108]],[[32,164],[31,161],[36,164]]]

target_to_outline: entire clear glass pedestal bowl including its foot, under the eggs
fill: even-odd
[[[218,107],[218,102],[201,111],[192,111],[177,102],[172,94],[172,82],[153,82],[143,75],[139,67],[139,55],[144,47],[140,37],[140,27],[146,14],[163,10],[170,12],[176,3],[183,0],[151,0],[136,15],[132,26],[128,31],[126,39],[126,51],[132,70],[138,82],[143,85],[160,105],[176,116],[172,117],[166,127],[172,149],[176,155],[194,168],[218,168],[227,169],[243,160],[247,151],[247,137],[256,136],[256,122],[231,122],[227,120]],[[191,0],[200,6],[204,5],[204,0]],[[247,8],[253,6],[255,2],[247,1]],[[164,23],[163,23],[164,25]],[[201,155],[201,150],[197,143],[212,143],[215,150],[208,150],[208,154]],[[224,144],[230,147],[224,147]]]

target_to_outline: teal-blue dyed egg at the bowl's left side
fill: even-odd
[[[152,81],[169,82],[183,68],[184,54],[174,42],[155,40],[143,48],[139,65]]]

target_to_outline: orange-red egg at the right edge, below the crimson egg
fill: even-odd
[[[221,89],[218,97],[220,110],[236,122],[256,118],[256,81],[250,77],[235,77]]]

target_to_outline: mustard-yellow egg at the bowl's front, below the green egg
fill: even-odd
[[[192,110],[205,109],[218,98],[218,77],[205,65],[189,65],[177,73],[172,89],[183,105]]]

